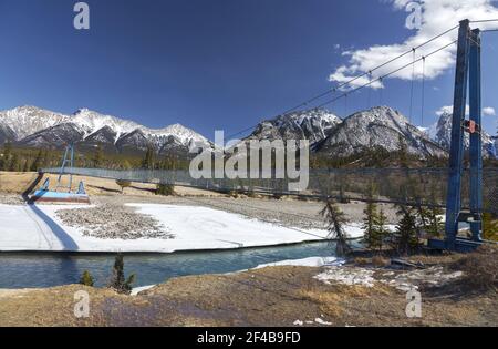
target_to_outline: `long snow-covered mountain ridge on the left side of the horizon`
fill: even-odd
[[[62,147],[77,143],[82,147],[97,144],[106,150],[187,151],[193,142],[209,144],[195,131],[180,124],[151,129],[136,122],[81,109],[72,115],[35,106],[20,106],[0,112],[0,141],[14,141],[25,146]]]

